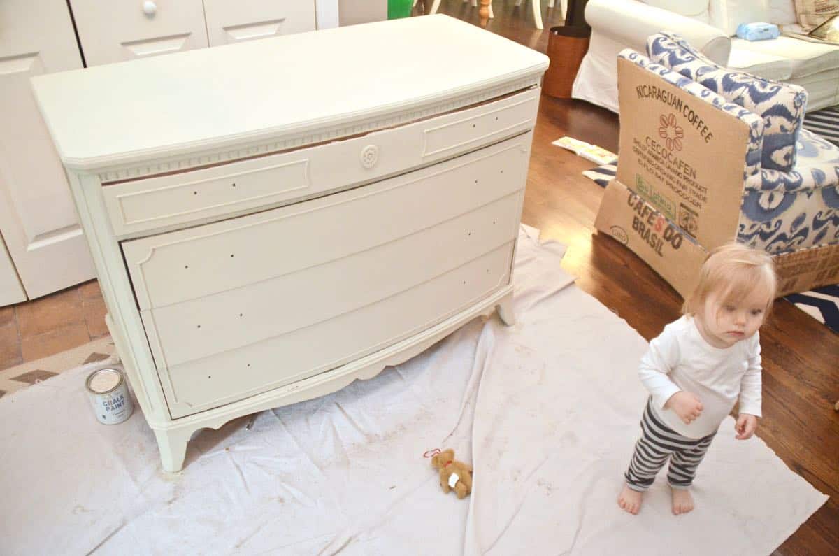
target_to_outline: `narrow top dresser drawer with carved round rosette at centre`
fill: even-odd
[[[539,90],[293,152],[105,184],[118,238],[206,223],[339,191],[445,160],[534,125]]]

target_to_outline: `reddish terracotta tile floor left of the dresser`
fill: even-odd
[[[106,312],[95,280],[0,307],[0,370],[107,336]]]

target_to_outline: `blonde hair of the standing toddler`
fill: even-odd
[[[766,251],[736,242],[725,244],[714,249],[699,272],[699,284],[682,306],[685,315],[700,311],[711,293],[717,293],[722,304],[736,304],[758,288],[767,292],[766,314],[769,315],[778,292],[778,275]]]

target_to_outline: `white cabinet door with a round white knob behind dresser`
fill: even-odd
[[[88,67],[207,45],[201,0],[70,0]]]

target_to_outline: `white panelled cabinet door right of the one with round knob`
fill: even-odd
[[[315,30],[314,0],[204,0],[211,46]]]

